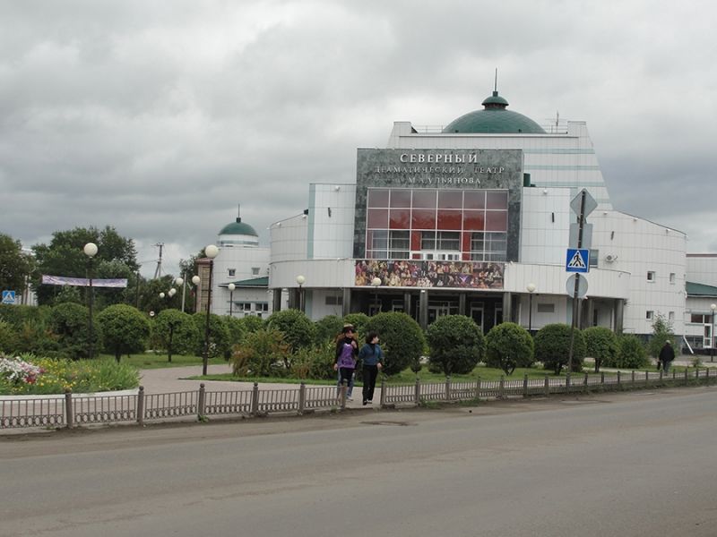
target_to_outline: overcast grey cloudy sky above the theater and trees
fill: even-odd
[[[498,90],[586,121],[615,209],[717,251],[717,4],[707,0],[0,0],[0,232],[115,226],[151,275],[309,183],[354,183],[394,121]]]

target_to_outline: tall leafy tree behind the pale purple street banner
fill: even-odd
[[[95,277],[128,277],[139,268],[134,241],[117,234],[114,227],[75,227],[72,230],[56,231],[49,244],[32,247],[36,258],[36,270],[31,282],[38,295],[38,303],[53,303],[55,291],[52,286],[41,286],[41,276],[86,277],[87,256],[82,251],[86,243],[96,243],[97,255],[91,260]],[[125,301],[125,289],[95,289],[98,305]]]

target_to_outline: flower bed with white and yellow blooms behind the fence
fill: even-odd
[[[33,354],[0,355],[0,394],[44,395],[91,393],[137,388],[140,374],[134,366],[111,359],[57,360]]]

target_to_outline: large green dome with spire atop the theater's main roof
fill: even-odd
[[[443,130],[447,133],[521,133],[521,134],[545,134],[543,128],[526,117],[511,110],[505,110],[508,101],[498,95],[497,91],[486,98],[482,105],[483,110],[474,110],[454,120]]]

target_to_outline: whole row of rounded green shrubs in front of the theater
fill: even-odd
[[[90,346],[88,318],[87,309],[76,303],[0,309],[0,351],[85,357]],[[524,328],[505,322],[484,335],[471,318],[448,315],[424,333],[401,312],[370,318],[363,313],[327,316],[316,322],[298,310],[277,311],[266,320],[212,314],[206,350],[211,357],[230,359],[233,371],[242,376],[331,379],[334,343],[346,323],[356,328],[359,344],[368,332],[380,335],[388,375],[409,367],[418,372],[425,355],[429,370],[445,375],[469,373],[479,362],[506,374],[541,362],[558,374],[568,365],[571,345],[573,371],[582,371],[585,356],[595,359],[596,371],[600,366],[638,369],[648,363],[644,345],[636,337],[617,337],[608,328],[571,333],[566,324],[551,324],[531,337]],[[202,355],[206,329],[205,313],[168,309],[150,319],[132,306],[115,304],[95,316],[92,343],[96,351],[114,354],[117,362],[121,355],[140,353],[148,346],[167,351],[171,361],[172,354]]]

